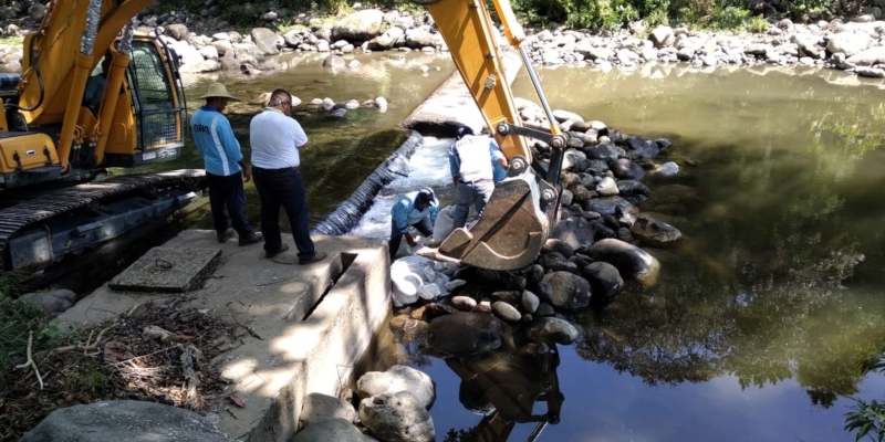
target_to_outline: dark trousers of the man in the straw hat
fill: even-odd
[[[242,172],[228,175],[206,173],[209,180],[209,207],[212,209],[212,223],[218,234],[228,230],[228,219],[225,209],[230,214],[230,223],[240,238],[252,234],[252,227],[246,221],[246,191],[242,189]]]

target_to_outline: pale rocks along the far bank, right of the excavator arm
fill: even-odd
[[[634,69],[648,62],[686,62],[695,66],[802,64],[885,77],[885,22],[864,15],[856,21],[798,24],[789,19],[764,33],[694,31],[642,22],[629,31],[595,35],[587,32],[541,31],[529,41],[531,57],[543,65],[591,64],[602,70]],[[644,38],[647,32],[647,38]]]

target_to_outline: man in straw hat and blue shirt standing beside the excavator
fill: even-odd
[[[218,242],[233,238],[233,232],[228,230],[228,220],[225,208],[230,214],[233,230],[240,236],[240,245],[254,244],[261,241],[261,233],[257,233],[246,220],[246,191],[243,179],[248,182],[252,176],[243,162],[240,143],[233,136],[228,118],[221,114],[228,101],[239,102],[230,96],[221,83],[209,85],[209,92],[199,97],[206,99],[206,106],[200,107],[190,117],[190,129],[204,161],[206,162],[206,177],[209,180],[209,207],[212,210],[212,222],[218,232]]]

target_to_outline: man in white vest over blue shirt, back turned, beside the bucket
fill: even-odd
[[[455,222],[458,229],[467,223],[470,204],[481,215],[494,190],[494,167],[497,164],[507,170],[504,157],[494,139],[487,135],[473,135],[467,126],[458,127],[457,141],[449,149],[449,169],[455,185]],[[506,172],[504,172],[506,173]],[[503,178],[501,178],[503,179]]]

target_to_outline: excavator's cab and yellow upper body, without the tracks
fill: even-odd
[[[176,57],[165,44],[149,35],[119,36],[81,62],[54,55],[46,39],[25,39],[24,73],[7,78],[6,90],[13,83],[17,90],[0,92],[0,189],[88,181],[108,167],[178,158],[187,109]],[[60,75],[65,62],[70,72]]]

